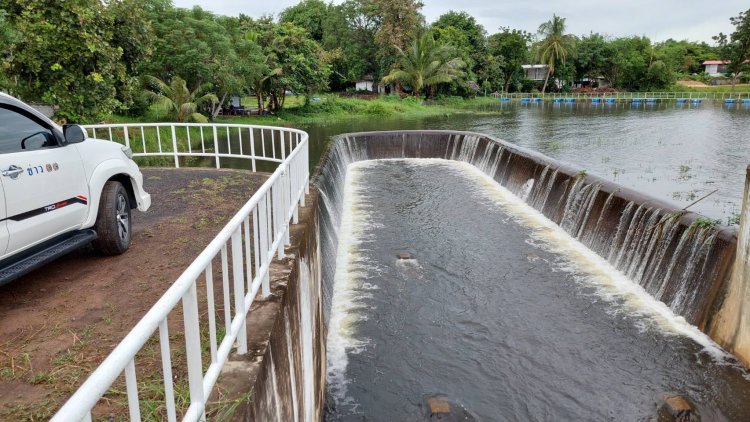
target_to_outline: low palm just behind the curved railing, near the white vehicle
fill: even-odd
[[[190,91],[187,83],[179,76],[172,78],[167,84],[154,76],[146,76],[144,80],[146,96],[154,104],[164,107],[171,117],[180,123],[192,120],[205,123],[208,118],[198,112],[201,104],[210,102],[216,104],[219,98],[206,93],[210,85],[203,84]]]

